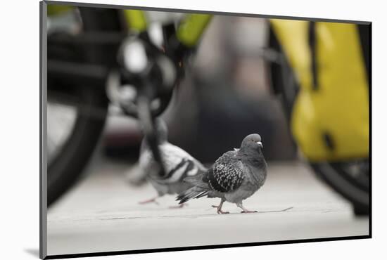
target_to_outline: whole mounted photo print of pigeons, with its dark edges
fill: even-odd
[[[40,4],[42,259],[371,238],[371,22]]]

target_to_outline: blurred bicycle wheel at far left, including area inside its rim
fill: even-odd
[[[77,81],[57,64],[115,66],[118,44],[82,44],[88,33],[121,32],[118,11],[70,8],[49,19],[47,57],[47,205],[63,195],[86,166],[107,116],[106,79]],[[69,40],[70,39],[70,40]],[[55,62],[51,62],[54,60]],[[54,71],[54,72],[52,72]],[[92,71],[91,71],[92,72]]]

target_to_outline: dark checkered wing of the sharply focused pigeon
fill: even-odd
[[[228,193],[241,186],[243,164],[236,157],[236,151],[229,151],[219,157],[211,169],[208,170],[208,185],[212,190]]]

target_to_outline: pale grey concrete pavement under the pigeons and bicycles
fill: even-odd
[[[175,198],[138,204],[156,195],[149,185],[127,182],[127,164],[100,162],[90,167],[70,193],[49,209],[48,253],[75,254],[131,249],[217,245],[304,238],[367,235],[368,218],[353,216],[350,204],[315,178],[302,163],[269,163],[267,183],[244,205],[258,210],[230,214],[210,207],[218,199],[191,200],[170,209]],[[285,210],[286,209],[286,210]]]

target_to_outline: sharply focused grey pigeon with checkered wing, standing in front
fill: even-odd
[[[242,201],[253,195],[264,183],[267,176],[267,164],[262,154],[262,142],[259,134],[246,136],[241,148],[225,152],[208,171],[188,176],[184,181],[194,187],[177,196],[179,203],[199,197],[220,197],[217,208],[222,211],[225,201],[235,203],[243,212],[254,212],[243,207]]]

